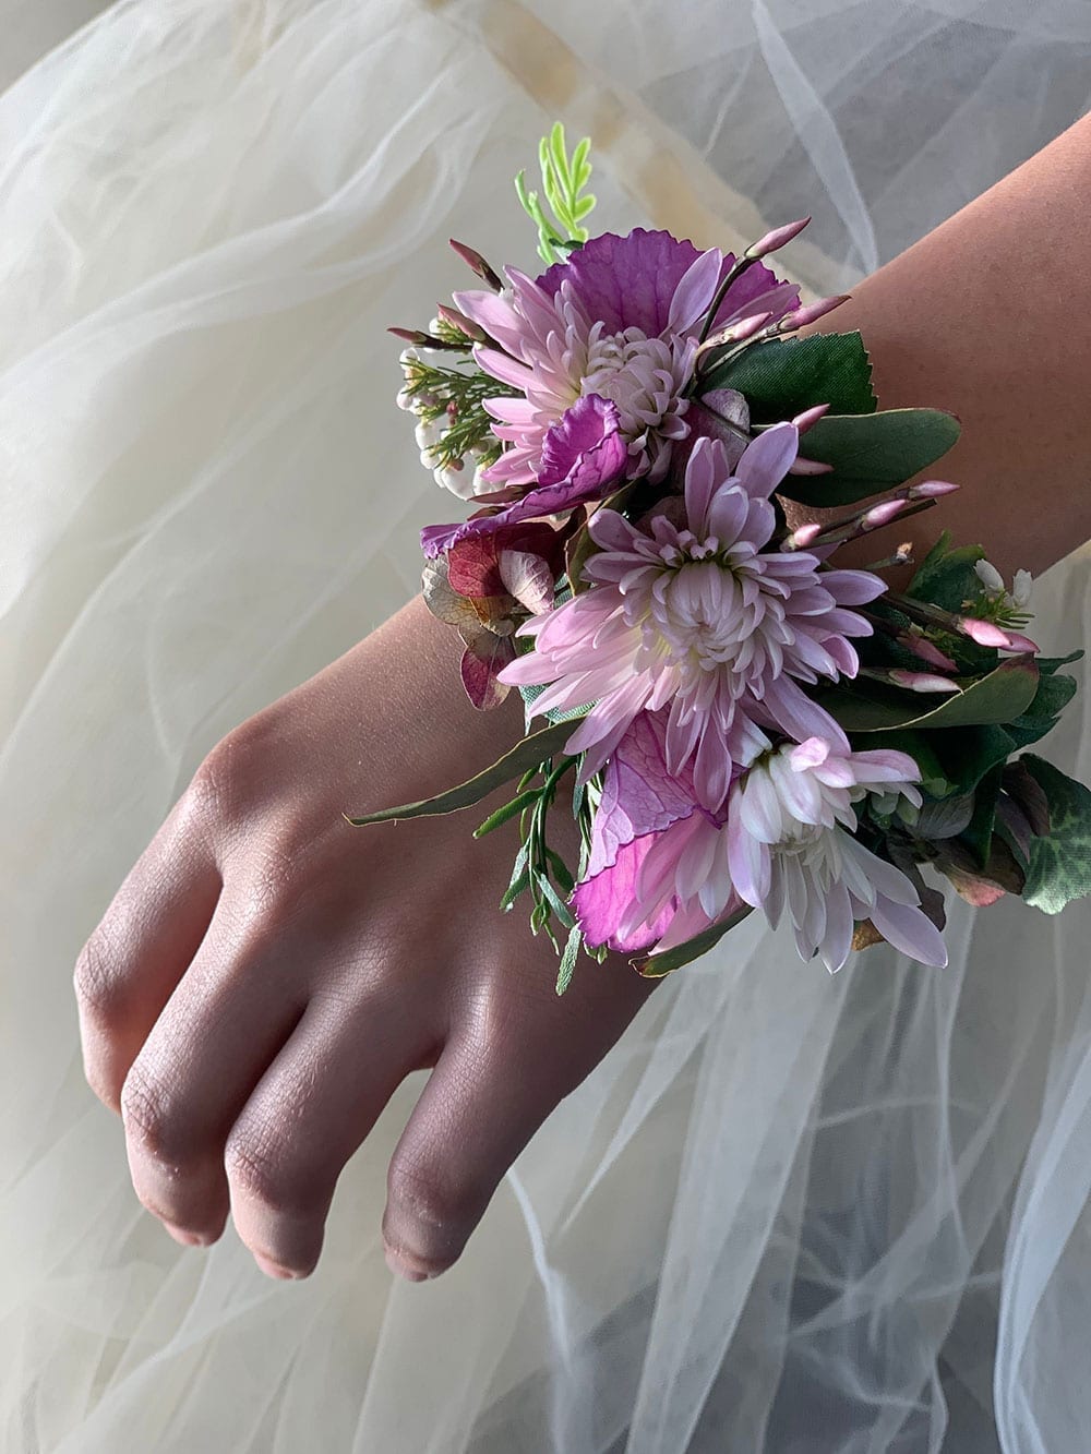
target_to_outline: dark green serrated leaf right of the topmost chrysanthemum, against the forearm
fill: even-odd
[[[701,387],[738,388],[755,425],[791,419],[813,404],[829,404],[832,414],[871,414],[877,409],[871,361],[858,333],[754,343],[732,362],[713,366]]]

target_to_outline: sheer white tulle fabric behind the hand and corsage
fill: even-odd
[[[0,0],[0,33],[23,64],[87,12]],[[451,234],[532,265],[506,179],[554,112],[595,126],[604,221],[813,212],[790,257],[829,291],[1090,76],[1075,0],[124,0],[0,97],[9,1454],[1091,1448],[1087,904],[956,900],[948,968],[836,977],[755,916],[422,1285],[380,1220],[423,1073],[276,1284],[140,1207],[71,993],[204,753],[416,587],[442,497],[383,329],[465,284]],[[1085,554],[1037,583],[1049,650],[1090,587]],[[1088,778],[1082,701],[1046,750]]]

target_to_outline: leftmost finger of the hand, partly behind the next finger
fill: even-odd
[[[113,1111],[121,1111],[125,1076],[196,954],[223,888],[198,811],[192,794],[179,798],[76,961],[84,1076]]]

